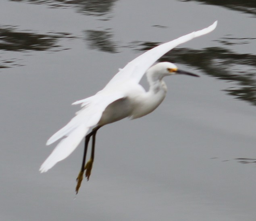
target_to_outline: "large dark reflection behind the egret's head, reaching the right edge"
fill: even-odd
[[[227,40],[227,39],[226,39]],[[133,42],[136,50],[145,51],[155,47],[155,42]],[[159,61],[185,64],[203,70],[206,74],[236,85],[228,88],[228,94],[256,105],[256,55],[239,54],[223,47],[194,50],[174,48]]]

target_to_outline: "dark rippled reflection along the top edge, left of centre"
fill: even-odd
[[[102,16],[111,12],[117,0],[11,0],[13,2],[29,2],[47,4],[56,8],[76,7],[78,12],[86,15]]]

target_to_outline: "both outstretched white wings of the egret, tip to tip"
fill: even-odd
[[[119,72],[110,80],[102,91],[99,91],[94,96],[74,102],[73,104],[81,104],[81,107],[83,108],[76,113],[76,116],[72,118],[66,126],[58,130],[49,138],[46,145],[50,145],[63,136],[66,136],[60,143],[58,143],[50,156],[44,161],[40,167],[40,171],[46,172],[58,161],[68,157],[79,145],[90,127],[98,124],[106,107],[110,103],[125,97],[125,94],[117,92],[119,91],[119,87],[129,86],[129,82],[132,84],[139,83],[146,70],[148,70],[148,68],[150,68],[150,66],[152,66],[152,64],[154,64],[154,62],[161,56],[181,43],[185,43],[195,37],[213,31],[216,28],[216,25],[217,21],[205,29],[189,33],[145,52],[129,62],[123,69],[119,69]]]

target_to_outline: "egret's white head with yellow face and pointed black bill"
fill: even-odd
[[[193,74],[184,70],[180,70],[177,66],[171,62],[160,62],[152,66],[149,70],[154,72],[154,76],[158,78],[163,78],[164,76],[174,75],[174,74],[186,74],[190,76],[199,77],[197,74]]]

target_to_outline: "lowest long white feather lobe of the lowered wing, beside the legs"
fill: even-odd
[[[52,168],[56,163],[68,157],[79,145],[88,130],[89,127],[80,125],[79,127],[75,128],[75,130],[73,130],[69,136],[63,138],[52,151],[50,156],[41,165],[39,169],[41,173],[48,171],[48,169]]]

